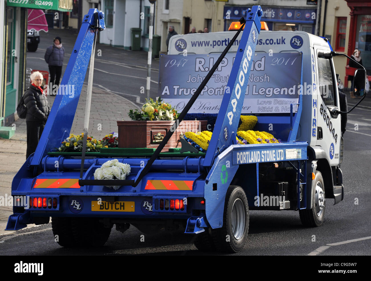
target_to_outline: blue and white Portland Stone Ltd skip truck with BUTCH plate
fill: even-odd
[[[121,232],[131,224],[142,231],[184,227],[185,233],[196,235],[198,249],[239,252],[247,241],[251,209],[295,210],[304,225],[322,225],[328,199],[337,204],[344,195],[339,168],[344,151],[342,112],[332,61],[339,54],[326,39],[312,34],[260,31],[262,13],[260,6],[253,6],[241,18],[239,30],[228,33],[234,34],[232,40],[224,41],[228,46],[174,122],[176,128],[233,46],[229,91],[224,92],[206,152],[161,152],[174,132],[170,130],[156,151],[147,154],[133,148],[66,155],[55,148],[69,136],[96,34],[105,29],[104,14],[90,9],[61,83],[75,85],[75,95],[56,96],[36,152],[14,177],[12,195],[28,196],[29,202],[14,204],[6,230],[45,224],[51,217],[58,243],[77,247],[104,245],[113,225]],[[238,46],[233,45],[237,37]],[[290,44],[263,44],[275,37]],[[273,125],[272,134],[282,142],[237,144],[253,56],[256,48],[269,53],[273,47],[295,54],[301,63],[299,82],[317,88],[311,95],[298,95],[289,112],[256,114],[255,129],[268,132]],[[362,79],[365,70],[358,69],[358,92],[365,88]],[[321,86],[330,88],[330,93],[322,95]],[[94,171],[110,159],[131,166],[125,180],[94,179]],[[106,185],[120,187],[113,190]],[[261,194],[279,198],[279,204],[256,200]]]

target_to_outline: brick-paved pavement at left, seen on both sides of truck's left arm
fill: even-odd
[[[81,96],[76,110],[71,133],[80,134],[83,131],[87,85],[82,88]],[[52,104],[55,96],[47,96],[48,102]],[[104,107],[102,106],[104,100]],[[89,135],[97,139],[103,138],[106,134],[117,132],[117,120],[130,120],[128,112],[130,109],[138,108],[129,100],[93,87],[92,103],[89,119]],[[98,130],[101,124],[102,130]],[[13,125],[15,129],[12,139],[0,138],[0,196],[10,196],[13,177],[26,161],[26,119],[18,119]],[[3,205],[3,204],[1,204]],[[13,214],[12,206],[0,205],[0,234],[4,231],[7,219]],[[33,225],[29,225],[32,227]]]

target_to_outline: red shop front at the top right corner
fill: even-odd
[[[368,79],[371,80],[371,1],[346,1],[351,10],[348,56],[351,56],[355,49],[361,52],[363,66]]]

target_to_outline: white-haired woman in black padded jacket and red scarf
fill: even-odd
[[[27,126],[27,152],[26,159],[35,152],[37,143],[43,132],[50,107],[47,103],[46,95],[43,93],[41,83],[43,75],[35,71],[31,73],[32,84],[24,92],[23,100],[27,107],[26,126]]]

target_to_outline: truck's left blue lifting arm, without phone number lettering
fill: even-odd
[[[81,29],[63,75],[58,95],[50,111],[39,144],[30,165],[40,165],[43,157],[69,136],[82,85],[88,69],[94,37],[97,30],[105,29],[104,13],[89,9],[82,20]],[[49,89],[49,92],[52,89]]]

